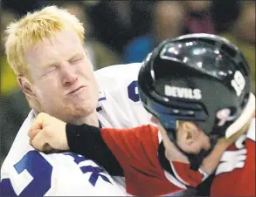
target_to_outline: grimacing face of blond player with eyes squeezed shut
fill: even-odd
[[[25,52],[41,110],[76,124],[96,110],[99,87],[80,37],[60,31]]]

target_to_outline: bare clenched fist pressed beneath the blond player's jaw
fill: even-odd
[[[28,136],[31,146],[39,151],[69,150],[66,139],[66,123],[44,112],[38,114]]]

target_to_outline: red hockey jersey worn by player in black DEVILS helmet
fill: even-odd
[[[223,154],[211,185],[211,195],[255,195],[254,125],[255,119],[247,135],[241,136]],[[186,186],[197,187],[203,181],[203,174],[190,170],[188,164],[170,162],[174,175],[163,170],[157,155],[158,130],[154,126],[103,128],[101,136],[121,164],[128,194],[174,194]]]

